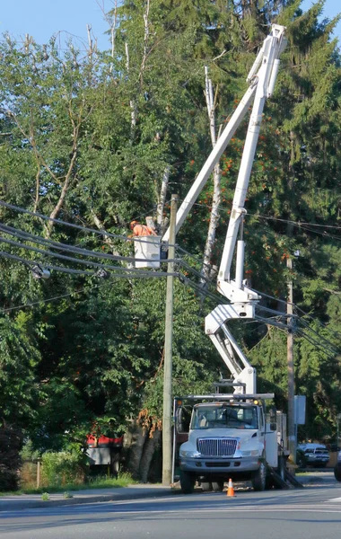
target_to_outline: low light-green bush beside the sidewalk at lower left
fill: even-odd
[[[84,455],[77,451],[44,453],[42,455],[42,480],[50,487],[84,482]]]

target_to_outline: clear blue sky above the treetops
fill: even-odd
[[[306,10],[312,0],[303,0]],[[0,34],[8,31],[16,40],[24,40],[30,34],[39,43],[60,32],[60,42],[68,36],[87,42],[86,25],[92,25],[92,33],[98,39],[99,49],[109,49],[108,30],[102,10],[109,11],[112,0],[3,0],[0,9]],[[324,15],[333,18],[341,13],[340,0],[326,0]],[[335,32],[341,44],[341,22]]]

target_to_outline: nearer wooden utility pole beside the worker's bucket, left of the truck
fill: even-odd
[[[171,379],[172,379],[172,340],[173,340],[173,286],[175,257],[175,225],[177,220],[178,195],[170,200],[170,240],[168,248],[168,273],[166,315],[164,329],[164,363],[163,363],[163,416],[162,416],[162,484],[170,485],[171,481]]]

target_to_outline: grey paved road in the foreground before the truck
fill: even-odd
[[[335,539],[341,523],[341,483],[304,490],[180,493],[0,514],[2,539]]]

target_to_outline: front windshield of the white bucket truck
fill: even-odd
[[[191,429],[258,429],[257,406],[195,406]]]

